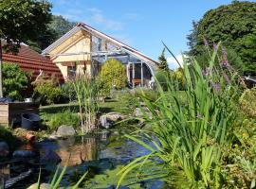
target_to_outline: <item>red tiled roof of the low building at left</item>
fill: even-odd
[[[4,44],[5,43],[2,42],[2,45]],[[55,76],[60,82],[64,82],[64,77],[58,66],[43,55],[40,55],[29,48],[27,45],[21,44],[17,55],[5,53],[3,51],[3,60],[19,64],[23,71],[32,72],[33,77],[37,77],[39,75],[39,70],[43,70],[43,74],[46,76]]]

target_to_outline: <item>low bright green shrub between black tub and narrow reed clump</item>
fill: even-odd
[[[78,129],[80,126],[80,118],[77,112],[57,112],[52,114],[46,122],[50,131],[58,129],[62,125],[73,126]]]

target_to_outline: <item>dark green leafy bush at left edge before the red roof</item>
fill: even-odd
[[[3,64],[3,93],[14,100],[23,100],[23,93],[27,88],[27,75],[14,63]]]

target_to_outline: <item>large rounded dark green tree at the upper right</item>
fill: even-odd
[[[212,46],[214,43],[222,42],[223,45],[233,50],[244,62],[244,72],[255,75],[254,52],[248,51],[248,38],[253,38],[256,28],[256,3],[233,1],[227,6],[210,9],[199,21],[197,27],[193,27],[192,34],[196,40],[189,39],[193,56],[204,53],[204,45]],[[191,35],[192,35],[191,34]],[[253,36],[251,36],[253,35]],[[251,36],[251,37],[248,37]],[[194,45],[194,40],[196,44]],[[247,53],[246,53],[247,52]]]

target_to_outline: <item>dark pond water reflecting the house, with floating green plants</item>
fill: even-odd
[[[20,149],[34,151],[37,158],[26,160],[10,159],[0,163],[0,173],[5,175],[5,180],[17,177],[31,169],[33,173],[25,180],[18,181],[9,188],[27,188],[37,182],[40,165],[40,156],[46,151],[55,151],[62,159],[63,167],[68,162],[68,168],[61,184],[63,186],[76,183],[85,171],[88,171],[82,188],[115,188],[119,177],[117,173],[123,166],[135,158],[149,153],[143,146],[122,137],[124,132],[130,130],[113,129],[86,136],[68,139],[45,140],[36,146],[21,146]],[[69,160],[69,161],[68,161]],[[55,171],[52,165],[42,165],[42,180],[48,182]],[[129,174],[122,182],[121,188],[162,188],[161,180],[164,173],[162,168],[152,164],[144,167],[147,175],[136,170]],[[154,179],[153,179],[154,178]],[[1,180],[0,180],[1,181]],[[0,186],[1,188],[1,186]]]

